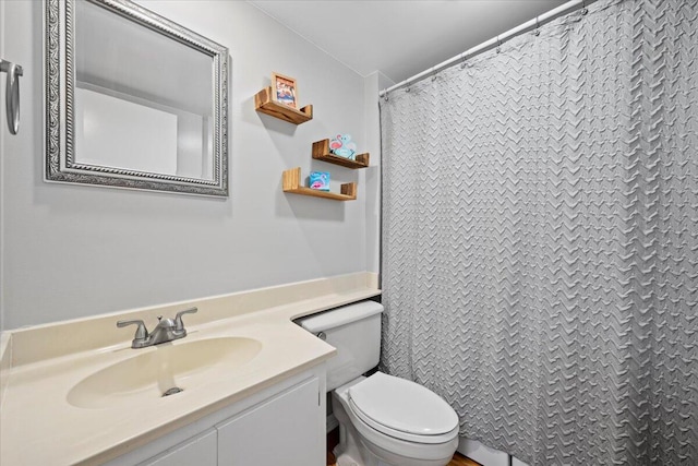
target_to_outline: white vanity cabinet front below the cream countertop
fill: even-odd
[[[106,463],[107,466],[324,466],[324,365]]]

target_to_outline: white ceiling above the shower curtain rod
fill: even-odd
[[[249,0],[365,76],[395,83],[565,0]]]

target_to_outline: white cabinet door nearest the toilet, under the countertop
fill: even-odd
[[[218,465],[323,466],[324,415],[312,378],[217,426]]]

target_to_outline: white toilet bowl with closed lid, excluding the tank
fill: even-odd
[[[338,466],[445,466],[458,447],[458,417],[413,382],[376,372],[332,394]]]

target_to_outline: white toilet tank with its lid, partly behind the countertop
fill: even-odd
[[[296,322],[337,348],[327,361],[327,391],[352,381],[378,365],[383,304],[363,301]]]

